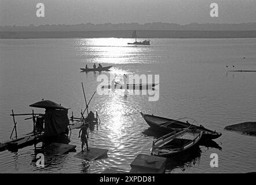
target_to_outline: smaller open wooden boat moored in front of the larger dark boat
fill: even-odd
[[[202,138],[202,135],[203,131],[191,128],[180,131],[177,134],[170,132],[169,134],[164,135],[161,138],[153,141],[150,153],[152,156],[160,157],[180,154],[183,151],[187,151],[193,146],[198,145],[198,142]]]

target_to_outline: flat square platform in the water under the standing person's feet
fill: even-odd
[[[87,161],[93,161],[93,160],[98,160],[100,158],[107,157],[108,150],[106,149],[98,149],[98,148],[92,148],[89,147],[90,151],[84,151],[79,152],[78,154],[75,155],[77,158],[81,158],[83,160]]]

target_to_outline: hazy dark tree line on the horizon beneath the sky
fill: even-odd
[[[105,23],[105,24],[53,24],[53,25],[28,25],[16,26],[5,25],[0,26],[0,31],[111,31],[111,30],[170,30],[170,31],[256,31],[256,23],[240,23],[240,24],[216,24],[216,23]]]

